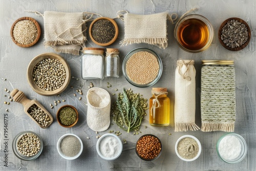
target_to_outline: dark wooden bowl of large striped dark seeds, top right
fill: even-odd
[[[249,44],[251,30],[243,19],[233,17],[226,19],[221,24],[218,36],[224,48],[230,51],[239,51]]]

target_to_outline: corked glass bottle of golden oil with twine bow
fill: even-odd
[[[170,124],[170,99],[166,88],[152,88],[150,98],[150,124],[168,126]]]

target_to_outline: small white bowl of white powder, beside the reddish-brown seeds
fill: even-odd
[[[102,159],[115,160],[121,155],[123,144],[115,134],[104,134],[97,141],[96,149]]]

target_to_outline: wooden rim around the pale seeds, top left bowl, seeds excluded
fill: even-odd
[[[31,22],[33,22],[37,28],[37,37],[35,38],[35,40],[33,42],[31,42],[30,44],[27,44],[27,45],[22,45],[22,44],[19,44],[13,37],[13,29],[14,29],[14,26],[16,25],[16,23],[18,23],[20,20],[31,20]],[[14,42],[14,44],[16,44],[17,46],[19,47],[23,47],[23,48],[28,48],[28,47],[31,47],[33,45],[36,44],[36,42],[39,40],[40,38],[40,35],[41,35],[41,29],[40,29],[40,25],[37,23],[37,21],[34,19],[34,18],[31,18],[31,17],[22,17],[22,18],[18,18],[13,24],[12,24],[12,27],[11,27],[11,38],[12,38],[12,41]]]

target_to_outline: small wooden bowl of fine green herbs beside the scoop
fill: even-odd
[[[72,127],[78,121],[78,112],[72,105],[63,105],[57,111],[57,121],[63,127]]]

